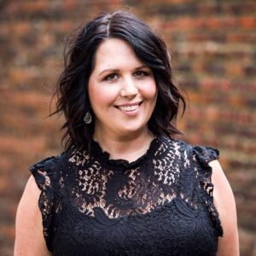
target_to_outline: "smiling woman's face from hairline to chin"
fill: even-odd
[[[148,130],[157,88],[130,44],[118,38],[100,44],[88,86],[96,134],[123,137]]]

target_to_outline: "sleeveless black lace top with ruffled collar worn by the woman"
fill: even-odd
[[[208,162],[218,150],[157,137],[129,163],[91,148],[30,168],[53,255],[216,254],[223,231]]]

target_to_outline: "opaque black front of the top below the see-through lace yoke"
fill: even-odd
[[[215,255],[218,238],[204,210],[180,198],[152,212],[108,218],[101,207],[92,218],[64,206],[55,219],[53,255]]]

